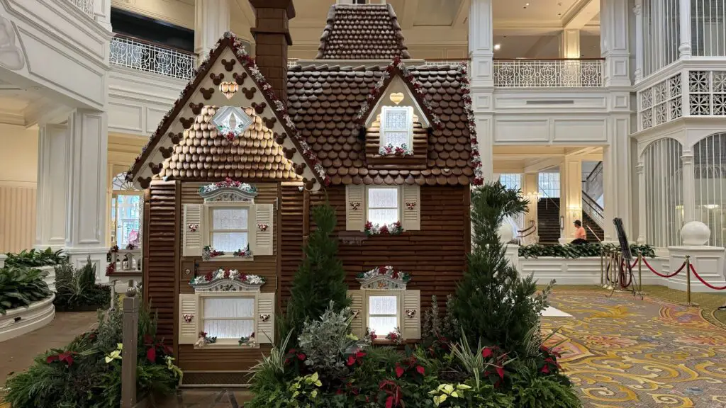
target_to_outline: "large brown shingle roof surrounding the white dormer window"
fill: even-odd
[[[449,66],[409,68],[441,121],[428,131],[425,168],[369,166],[356,115],[385,72],[386,67],[328,65],[298,65],[287,72],[288,113],[331,184],[470,184],[478,153],[472,152],[476,135],[465,102],[466,73]]]

